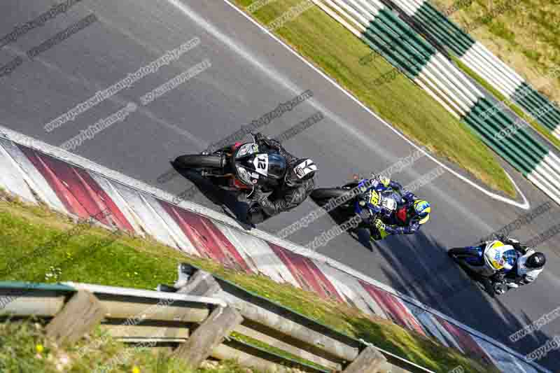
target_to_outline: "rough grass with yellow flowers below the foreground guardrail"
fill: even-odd
[[[95,339],[106,341],[99,349],[79,353]],[[190,370],[181,360],[169,357],[170,349],[132,349],[98,331],[72,346],[57,346],[45,337],[44,325],[33,321],[0,323],[0,372],[20,373],[91,373],[111,367],[106,373],[258,373],[240,367],[234,361],[207,360]],[[123,358],[127,356],[127,358]],[[122,363],[112,362],[120,360]]]

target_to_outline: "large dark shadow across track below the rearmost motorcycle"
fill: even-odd
[[[477,242],[466,242],[465,246],[468,244]],[[449,258],[448,247],[423,232],[388,237],[378,247],[378,253],[390,264],[389,268],[381,270],[389,279],[388,283],[400,293],[409,295],[470,328],[483,331],[522,354],[530,353],[551,338],[542,332],[533,332],[515,343],[509,338],[512,333],[535,321],[535,318],[523,314],[520,319],[508,310],[505,300],[519,295],[519,292],[535,291],[535,284],[492,298],[482,290],[482,285],[479,286],[475,279]],[[418,318],[433,317],[412,304],[409,308]],[[453,329],[450,327],[447,332],[454,334]],[[438,330],[427,332],[434,336],[441,333]],[[491,353],[491,348],[486,351]],[[550,351],[538,364],[553,366],[558,356],[558,351]]]

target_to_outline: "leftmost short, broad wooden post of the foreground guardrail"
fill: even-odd
[[[92,293],[78,290],[48,323],[47,337],[59,344],[76,342],[99,325],[105,314],[103,305]]]

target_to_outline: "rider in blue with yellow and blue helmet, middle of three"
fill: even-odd
[[[366,220],[370,225],[371,239],[381,239],[388,234],[414,234],[430,219],[430,204],[402,188],[400,183],[382,175],[374,176],[370,182],[376,191],[393,188],[402,196],[402,200],[397,201],[395,212],[381,210],[381,218]],[[360,202],[360,206],[365,206],[365,201]]]

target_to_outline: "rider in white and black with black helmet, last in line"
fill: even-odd
[[[517,261],[512,265],[512,268],[500,270],[496,274],[496,281],[503,281],[507,289],[519,288],[519,286],[535,281],[546,264],[545,254],[520,244],[517,239],[500,235],[498,240],[505,245],[511,245],[517,251]],[[503,294],[506,288],[498,288],[495,291],[498,294]]]

